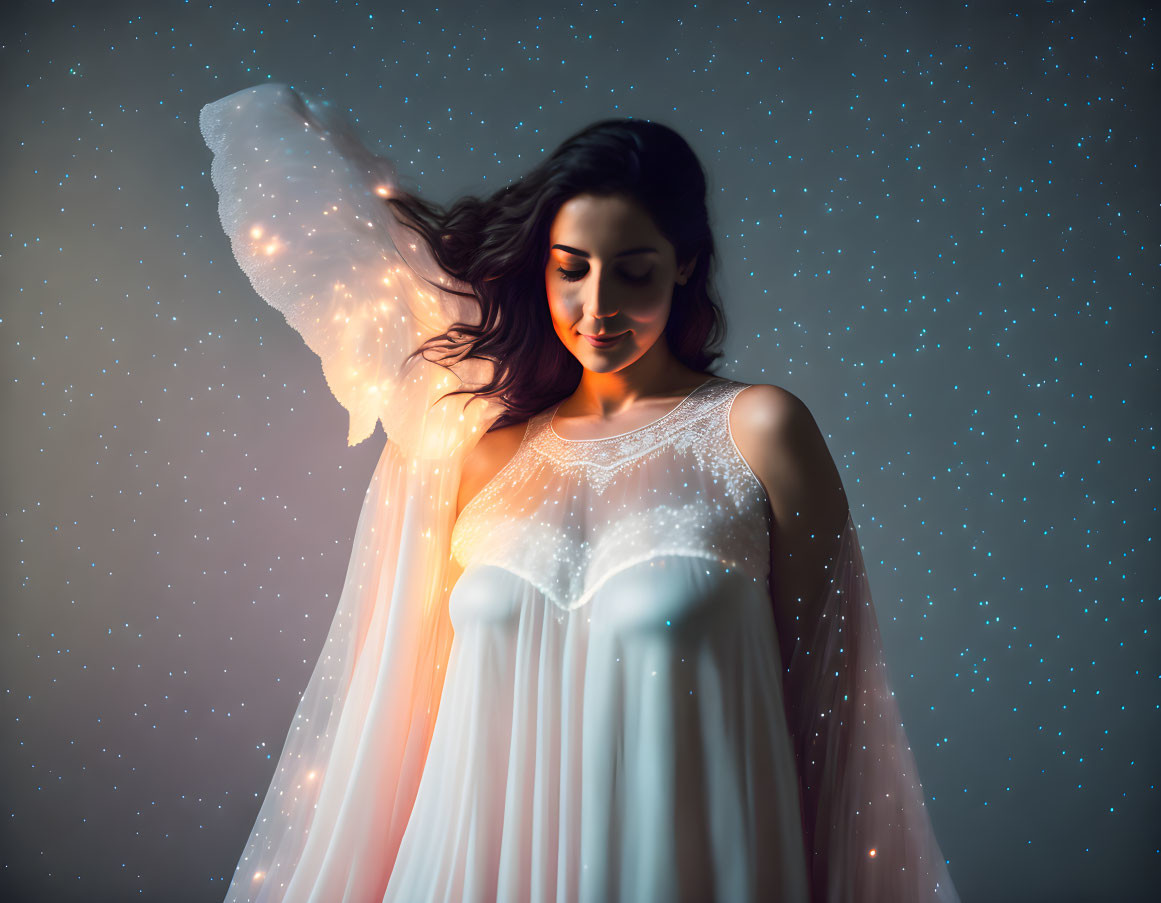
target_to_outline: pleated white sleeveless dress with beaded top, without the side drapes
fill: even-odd
[[[391,901],[807,901],[747,388],[567,440],[460,514],[455,637]]]

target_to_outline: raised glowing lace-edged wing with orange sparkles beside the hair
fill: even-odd
[[[382,420],[409,455],[444,454],[446,432],[432,428],[428,409],[449,389],[482,384],[492,363],[404,363],[453,323],[478,324],[479,308],[470,286],[448,277],[384,203],[397,187],[392,162],[372,153],[329,101],[286,85],[208,103],[199,124],[233,255],[322,359],[349,413],[348,445]],[[466,398],[454,404],[462,409]],[[490,403],[473,407],[499,413]]]

